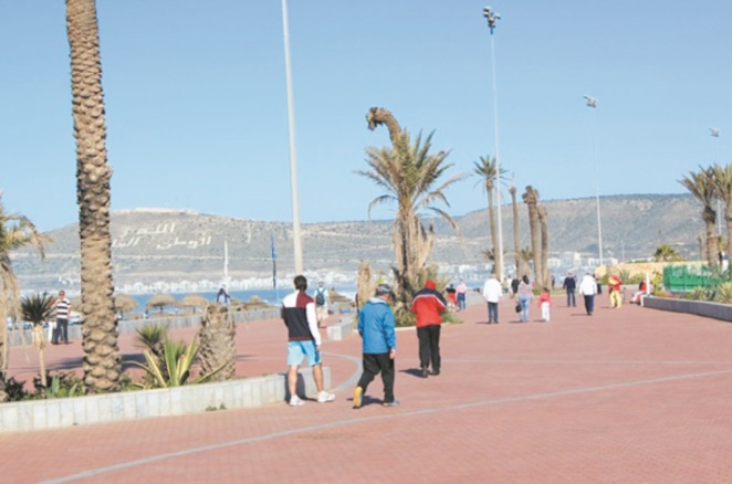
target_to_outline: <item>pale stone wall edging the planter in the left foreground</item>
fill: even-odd
[[[331,388],[328,367],[323,367],[323,385]],[[254,408],[286,401],[290,397],[286,386],[286,375],[281,373],[155,390],[7,402],[0,403],[0,433]],[[299,375],[297,393],[317,393],[310,368]]]

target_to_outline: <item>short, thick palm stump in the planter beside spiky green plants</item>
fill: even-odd
[[[201,318],[199,332],[201,372],[216,372],[213,380],[231,380],[237,375],[237,325],[229,317],[229,306],[209,304]],[[217,370],[218,369],[218,370]]]

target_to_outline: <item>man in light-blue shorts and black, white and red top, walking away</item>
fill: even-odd
[[[317,330],[315,304],[307,295],[307,280],[304,275],[294,278],[295,292],[282,299],[282,319],[287,327],[287,389],[290,404],[299,407],[303,400],[297,396],[297,370],[307,358],[313,370],[317,402],[335,400],[335,394],[323,389],[323,364],[321,359],[321,332]]]

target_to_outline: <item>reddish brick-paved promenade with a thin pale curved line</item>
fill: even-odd
[[[471,305],[442,328],[442,375],[428,379],[415,332],[399,332],[397,408],[377,379],[352,409],[355,336],[323,348],[333,403],[3,434],[0,482],[732,482],[732,324],[598,306],[589,317],[555,297],[551,323],[519,324],[504,301],[487,325]],[[281,322],[241,326],[239,373],[283,371],[284,338]],[[79,353],[51,347],[49,365]],[[34,358],[13,349],[14,368],[32,373]]]

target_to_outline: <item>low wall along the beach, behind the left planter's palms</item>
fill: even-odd
[[[263,309],[252,309],[244,312],[234,312],[230,313],[231,317],[236,323],[247,323],[252,320],[262,320],[262,319],[276,319],[280,317],[280,309],[276,307],[268,307]],[[167,326],[170,329],[178,328],[198,328],[201,325],[201,315],[190,315],[190,316],[174,316],[174,317],[150,317],[147,319],[125,319],[117,323],[117,329],[121,335],[135,333],[137,328],[140,328],[146,325],[159,324]],[[44,329],[44,333],[48,333]],[[8,332],[8,338],[10,346],[21,346],[29,345],[31,341],[31,330],[30,329],[12,329]],[[69,339],[72,341],[82,339],[82,327],[81,325],[69,326]]]

